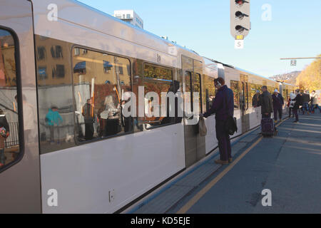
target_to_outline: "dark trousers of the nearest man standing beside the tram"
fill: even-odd
[[[230,146],[230,135],[225,130],[226,120],[216,120],[216,138],[220,150],[220,160],[228,161],[232,158],[232,148]]]

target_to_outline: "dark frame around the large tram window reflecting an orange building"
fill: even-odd
[[[133,69],[132,69],[132,62],[131,62],[131,58],[128,57],[128,56],[121,56],[121,55],[118,55],[116,53],[109,53],[109,52],[106,52],[106,51],[101,51],[101,50],[98,50],[98,49],[95,49],[95,48],[88,48],[88,47],[84,47],[84,46],[79,46],[79,45],[76,45],[74,44],[73,46],[71,46],[71,72],[73,73],[73,54],[74,54],[74,49],[75,48],[79,48],[80,50],[86,50],[86,54],[88,54],[89,51],[93,51],[93,52],[96,52],[96,53],[101,53],[102,55],[108,55],[108,56],[113,56],[113,58],[124,58],[126,60],[128,60],[128,63],[129,63],[129,67],[127,67],[127,70],[129,70],[128,72],[128,76],[130,77],[130,81],[131,81],[131,93],[133,93]],[[116,72],[116,63],[114,61],[114,67],[115,67],[115,73],[116,73],[116,77],[117,77],[117,72]],[[86,69],[87,69],[87,66],[86,66]],[[86,73],[87,70],[86,70]],[[85,73],[85,74],[86,74]],[[105,73],[103,71],[104,75],[108,74],[108,73]],[[123,74],[124,75],[124,74]],[[123,76],[122,75],[122,76]],[[76,145],[86,145],[86,144],[89,144],[89,143],[93,143],[93,142],[101,142],[101,141],[104,141],[104,140],[109,140],[111,138],[118,138],[118,137],[122,137],[122,136],[125,136],[125,135],[131,135],[133,133],[135,133],[135,125],[134,125],[134,120],[136,119],[135,117],[132,117],[133,118],[133,122],[131,123],[131,130],[128,131],[128,132],[123,132],[123,133],[118,133],[116,135],[109,135],[109,136],[106,136],[106,137],[98,137],[98,138],[93,138],[92,140],[84,140],[84,141],[80,141],[78,140],[78,133],[76,133],[76,102],[75,102],[75,88],[74,88],[74,78],[73,76],[71,76],[71,82],[72,82],[72,88],[73,88],[73,124],[74,124],[74,140],[75,140],[75,143]],[[122,86],[119,81],[118,81],[118,78],[116,80],[117,82],[117,86]],[[118,85],[119,84],[119,85]],[[121,113],[122,115],[122,113]]]

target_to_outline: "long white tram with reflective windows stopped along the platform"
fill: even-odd
[[[210,61],[78,1],[0,5],[0,48],[9,55],[4,43],[11,38],[16,78],[1,90],[18,95],[16,101],[14,93],[7,95],[4,113],[19,126],[18,143],[4,150],[7,161],[0,167],[0,212],[119,212],[218,146],[214,115],[206,120],[205,138],[197,125],[164,118],[121,117],[125,123],[111,133],[105,126],[111,122],[98,111],[108,96],[117,105],[125,91],[144,86],[167,92],[176,81],[184,93],[200,92],[204,112],[215,97],[213,80],[222,76],[235,93],[237,138],[260,125],[253,91],[265,85],[288,96],[294,89]],[[6,56],[2,61],[10,63]],[[86,106],[88,100],[95,108]],[[93,120],[89,136],[81,115],[86,107]],[[53,125],[52,116],[58,121]]]

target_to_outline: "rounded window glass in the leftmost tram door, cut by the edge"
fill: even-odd
[[[18,160],[21,155],[15,45],[11,33],[0,28],[0,172]]]

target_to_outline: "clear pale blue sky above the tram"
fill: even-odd
[[[314,61],[298,60],[297,66],[280,58],[314,57],[321,54],[320,0],[253,0],[252,29],[245,48],[235,49],[230,35],[228,0],[80,0],[113,15],[114,10],[133,9],[144,29],[168,36],[208,58],[270,77],[302,71]],[[263,21],[263,5],[271,6],[271,21]]]

